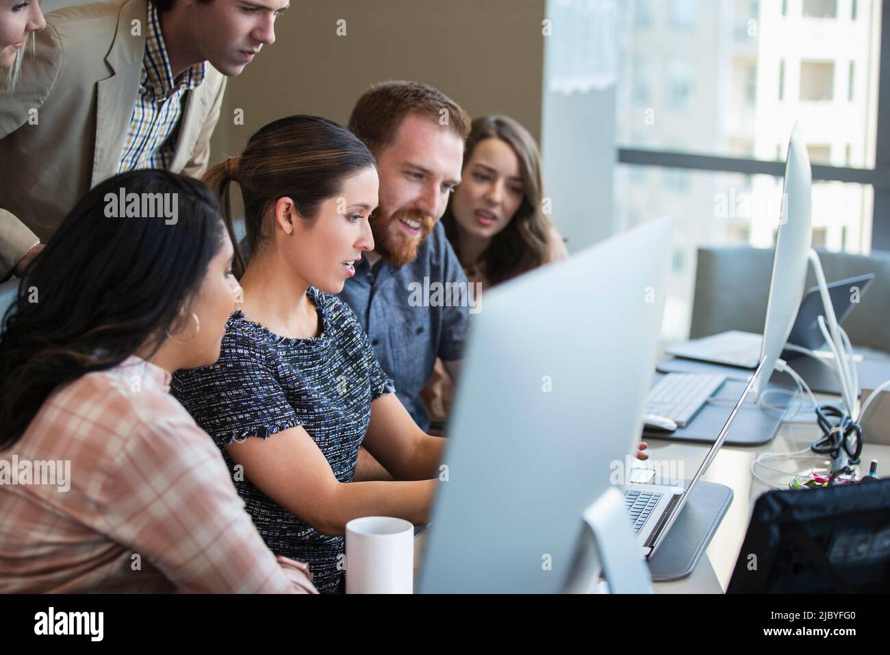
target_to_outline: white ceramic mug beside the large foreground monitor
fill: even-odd
[[[414,526],[366,516],[346,524],[346,593],[412,594]]]

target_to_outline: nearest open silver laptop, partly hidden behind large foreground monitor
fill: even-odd
[[[685,489],[679,486],[665,484],[627,484],[624,485],[625,508],[634,525],[636,543],[640,546],[643,557],[650,558],[664,542],[668,530],[674,525],[674,521],[683,511],[686,501],[692,494],[692,489],[708,470],[708,466],[716,457],[717,451],[724,445],[726,435],[729,432],[732,420],[739,413],[741,405],[748,397],[748,392],[754,388],[758,376],[762,373],[765,359],[761,360],[754,374],[748,379],[745,390],[732,408],[732,413],[726,419],[723,429],[717,435],[714,445],[705,455],[699,470],[690,480]],[[676,481],[679,485],[679,480]]]

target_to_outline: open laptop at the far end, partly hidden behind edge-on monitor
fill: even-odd
[[[874,274],[857,275],[846,280],[831,282],[828,285],[829,296],[837,312],[838,323],[843,323],[853,311],[874,278]],[[856,294],[851,291],[854,287],[859,290]],[[819,287],[813,287],[800,303],[788,343],[809,350],[818,350],[824,346],[825,339],[822,337],[819,323],[817,323],[818,317],[824,314]],[[753,369],[760,361],[762,342],[763,335],[761,334],[731,330],[687,341],[675,348],[667,348],[665,352],[668,355],[685,359]]]

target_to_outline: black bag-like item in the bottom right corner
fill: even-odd
[[[890,592],[890,479],[757,498],[727,594]]]

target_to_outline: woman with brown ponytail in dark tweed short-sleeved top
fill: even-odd
[[[319,590],[334,592],[349,520],[425,522],[444,443],[417,427],[352,310],[332,295],[374,249],[375,160],[344,127],[291,116],[205,180],[232,241],[228,199],[239,184],[250,260],[242,269],[236,257],[243,302],[220,361],[177,373],[174,394],[241,472],[235,487],[266,544],[309,561]],[[357,471],[362,444],[394,480]]]

